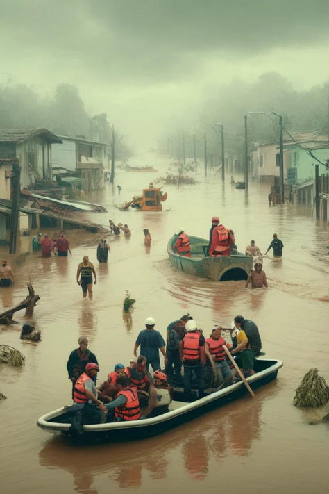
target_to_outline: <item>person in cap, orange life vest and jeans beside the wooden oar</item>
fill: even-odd
[[[205,365],[211,365],[214,373],[214,382],[217,388],[231,384],[233,376],[223,349],[226,341],[221,336],[221,326],[214,327],[209,338],[205,340],[205,354],[208,357]],[[228,347],[230,345],[227,345]]]

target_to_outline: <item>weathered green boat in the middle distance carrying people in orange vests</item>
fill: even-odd
[[[169,260],[174,267],[185,273],[212,281],[233,281],[247,279],[253,269],[253,258],[242,252],[232,256],[207,256],[208,240],[199,237],[189,236],[191,257],[179,256],[172,249],[176,240],[177,235],[174,235],[168,242]]]

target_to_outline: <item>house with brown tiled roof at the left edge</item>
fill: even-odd
[[[21,188],[33,188],[36,177],[52,179],[51,145],[61,142],[47,129],[0,129],[0,158],[18,158]]]

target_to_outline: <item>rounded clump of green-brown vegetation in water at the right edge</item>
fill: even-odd
[[[295,406],[323,406],[329,400],[329,387],[316,368],[306,372],[294,396]]]

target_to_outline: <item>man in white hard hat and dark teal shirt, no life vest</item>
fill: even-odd
[[[167,354],[165,352],[165,340],[159,331],[154,329],[155,320],[151,317],[145,320],[145,329],[140,331],[134,347],[134,355],[137,356],[137,349],[140,346],[140,353],[146,357],[146,370],[151,365],[153,371],[160,369],[159,350],[167,363]]]

